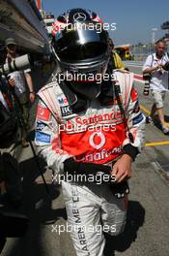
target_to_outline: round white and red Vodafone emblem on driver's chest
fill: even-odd
[[[99,149],[105,144],[105,136],[101,132],[93,133],[89,138],[89,143]]]

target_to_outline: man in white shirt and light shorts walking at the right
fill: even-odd
[[[143,66],[143,75],[149,74],[150,88],[154,98],[154,104],[150,116],[147,117],[147,123],[155,120],[157,112],[159,122],[164,134],[169,134],[169,128],[166,126],[163,112],[163,101],[166,91],[169,89],[169,73],[165,70],[165,64],[169,62],[168,54],[165,53],[166,43],[158,40],[155,43],[155,52],[150,54]]]

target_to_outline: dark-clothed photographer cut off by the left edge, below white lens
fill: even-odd
[[[21,131],[4,82],[0,78],[0,204],[3,201],[16,208],[22,200],[21,177],[16,160]]]

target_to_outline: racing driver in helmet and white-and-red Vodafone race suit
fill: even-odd
[[[108,42],[97,14],[71,9],[58,16],[53,50],[60,73],[39,91],[35,143],[55,175],[73,176],[62,190],[78,256],[102,256],[103,231],[124,231],[127,179],[144,138],[133,74],[107,68]],[[92,179],[98,175],[99,184]]]

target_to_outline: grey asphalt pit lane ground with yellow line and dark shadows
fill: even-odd
[[[140,67],[128,68],[141,74]],[[147,115],[151,110],[152,98],[143,96],[143,85],[135,81],[140,106]],[[166,117],[169,115],[168,96],[164,105]],[[34,119],[35,108],[31,112]],[[133,163],[133,176],[129,180],[127,227],[123,235],[106,238],[105,256],[169,255],[168,156],[169,137],[162,134],[157,124],[147,124],[145,148]],[[66,226],[67,214],[61,188],[51,184],[51,172],[41,160],[42,172],[49,188],[49,194],[46,194],[30,146],[20,150],[19,161],[24,201],[18,211],[28,215],[30,223],[25,238],[7,239],[1,255],[74,256],[70,234],[63,232],[59,235],[53,229],[56,225]]]

